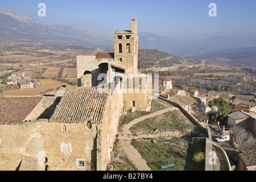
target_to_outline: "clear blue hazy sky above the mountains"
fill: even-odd
[[[38,4],[46,4],[46,17],[38,16]],[[210,17],[210,3],[217,16]],[[201,40],[210,36],[256,38],[255,0],[8,0],[0,7],[38,19],[44,24],[83,28],[97,38],[113,39],[116,30],[147,31],[174,39]]]

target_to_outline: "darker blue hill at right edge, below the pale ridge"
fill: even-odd
[[[209,60],[228,59],[236,61],[237,63],[241,64],[256,64],[256,47],[241,47],[233,49],[224,49],[221,51],[212,51],[203,53],[201,55],[192,56],[192,58]]]

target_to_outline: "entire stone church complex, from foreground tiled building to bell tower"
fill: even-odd
[[[131,31],[115,32],[114,53],[77,56],[79,87],[23,105],[21,98],[0,100],[0,170],[105,170],[123,108],[151,107],[152,78],[138,74],[137,20],[131,22]],[[22,117],[11,120],[19,118],[12,113]]]

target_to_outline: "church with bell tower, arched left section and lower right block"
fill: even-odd
[[[123,109],[150,111],[152,77],[138,73],[138,39],[137,20],[132,19],[131,30],[114,33],[113,53],[77,56],[79,86],[101,88],[120,80]]]

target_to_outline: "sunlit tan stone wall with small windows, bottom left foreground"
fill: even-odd
[[[96,159],[96,134],[97,126],[89,129],[84,123],[36,121],[19,126],[1,125],[0,170],[96,169],[96,162],[92,160]],[[64,155],[63,144],[69,145],[68,155]],[[77,159],[84,160],[85,167],[77,167]]]

